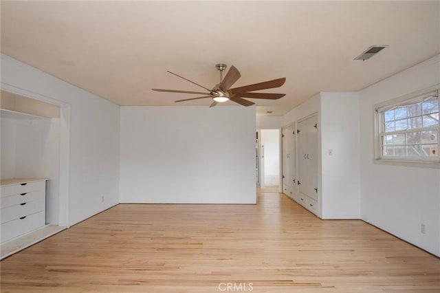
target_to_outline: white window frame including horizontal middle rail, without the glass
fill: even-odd
[[[429,168],[437,168],[440,169],[440,155],[438,157],[394,157],[394,156],[384,156],[383,155],[383,142],[382,135],[385,133],[384,131],[384,112],[388,111],[386,108],[393,108],[399,105],[406,105],[410,102],[419,101],[422,96],[426,96],[433,91],[437,91],[437,100],[439,100],[440,105],[440,84],[434,85],[432,87],[428,87],[426,89],[421,89],[419,91],[412,92],[410,94],[400,96],[398,98],[394,98],[392,100],[387,100],[385,102],[381,102],[373,106],[373,121],[374,121],[374,159],[373,163],[375,164],[393,164],[393,165],[401,165],[401,166],[420,166],[420,167],[429,167]],[[439,145],[437,151],[440,150],[440,124],[434,127],[422,127],[418,129],[409,129],[403,131],[390,131],[391,134],[395,133],[408,133],[408,132],[417,132],[421,130],[437,130],[437,144]]]

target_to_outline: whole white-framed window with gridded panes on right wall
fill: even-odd
[[[375,108],[377,160],[440,162],[439,89]]]

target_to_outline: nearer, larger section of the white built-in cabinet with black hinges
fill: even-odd
[[[318,121],[311,116],[298,122],[299,204],[318,213]]]

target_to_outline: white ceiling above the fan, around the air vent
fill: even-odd
[[[318,91],[359,90],[440,53],[439,1],[1,1],[1,52],[118,105],[210,105],[170,70],[211,88],[286,77],[280,116]],[[369,61],[353,58],[389,45]],[[252,99],[250,99],[252,100]]]

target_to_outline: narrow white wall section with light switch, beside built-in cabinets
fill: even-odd
[[[322,219],[360,219],[358,92],[320,94]]]

